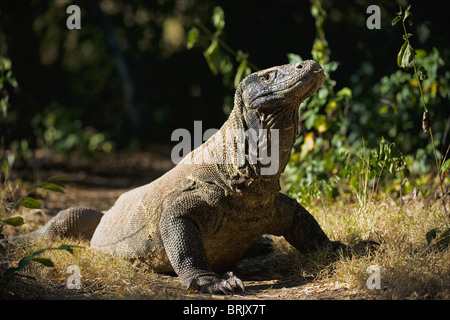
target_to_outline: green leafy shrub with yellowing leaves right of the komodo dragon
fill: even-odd
[[[397,20],[407,21],[409,9],[401,9]],[[369,94],[361,92],[358,85],[354,87],[357,97],[345,87],[335,93],[336,83],[329,75],[338,63],[329,57],[323,30],[326,12],[320,2],[315,2],[311,11],[318,29],[311,55],[328,77],[323,88],[300,108],[303,130],[286,169],[285,189],[305,203],[349,193],[361,206],[374,191],[398,197],[416,189],[428,196],[431,192],[423,183],[430,182],[434,155],[435,173],[442,178],[441,192],[445,194],[442,184],[448,182],[450,161],[446,160],[445,145],[438,150],[446,123],[446,118],[439,116],[445,114],[440,106],[450,96],[450,72],[443,72],[439,51],[415,51],[408,42],[411,35],[405,34],[398,63],[401,67],[414,63],[414,72],[398,70],[384,76]],[[293,54],[288,57],[292,62],[301,59]],[[426,103],[433,119],[438,116],[428,124],[430,135],[437,132],[434,140],[422,130],[425,115],[421,103]]]

